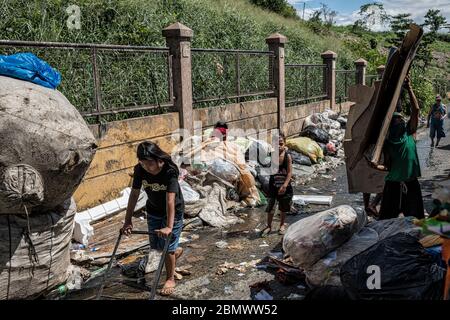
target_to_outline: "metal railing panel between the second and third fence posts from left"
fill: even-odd
[[[286,106],[325,99],[327,70],[325,64],[286,64]]]

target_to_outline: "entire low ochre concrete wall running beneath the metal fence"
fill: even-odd
[[[352,103],[336,105],[336,111],[348,112]],[[314,112],[322,112],[329,100],[286,108],[284,131],[293,136],[302,129],[304,118]],[[212,127],[217,121],[226,121],[230,129],[255,132],[277,128],[277,100],[264,100],[228,104],[195,109],[194,120],[201,121],[202,130]],[[133,167],[137,163],[136,147],[145,140],[157,142],[166,152],[171,152],[178,140],[171,134],[179,128],[178,113],[149,116],[106,124],[101,138],[99,126],[90,129],[97,137],[99,148],[83,182],[75,193],[78,210],[94,207],[119,196],[119,192],[131,185]],[[200,134],[199,129],[195,130]],[[270,142],[270,136],[267,137]]]

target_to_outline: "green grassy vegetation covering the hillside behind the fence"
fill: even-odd
[[[259,6],[252,2],[258,2]],[[361,57],[368,61],[368,74],[375,74],[376,67],[385,64],[390,46],[388,39],[393,38],[394,33],[371,32],[364,25],[336,27],[333,25],[336,13],[327,7],[321,8],[316,21],[312,22],[290,15],[289,9],[284,12],[278,8],[280,14],[268,10],[271,9],[268,3],[281,2],[284,1],[8,0],[2,3],[0,11],[0,39],[164,47],[162,29],[179,21],[194,30],[194,48],[267,50],[266,37],[279,32],[288,38],[286,63],[320,64],[320,53],[333,50],[338,54],[338,69],[354,69],[353,62]],[[80,30],[69,30],[66,24],[69,17],[66,8],[72,4],[81,9]],[[450,74],[448,37],[440,34],[436,37],[438,40],[430,44],[431,54],[437,54],[444,63],[439,60],[441,62],[436,65],[436,59],[433,59],[427,72],[416,72],[417,76],[413,77],[417,79],[413,78],[413,84],[417,86],[422,86],[425,79],[427,84],[423,87],[429,87],[432,79],[446,79]],[[36,53],[62,73],[59,90],[77,108],[93,109],[89,50],[23,48],[23,51]],[[0,48],[0,53],[12,52],[10,48]],[[167,102],[166,58],[159,53],[99,51],[102,108]],[[235,94],[236,61],[233,55],[194,52],[192,59],[194,98]],[[241,92],[268,89],[267,57],[246,56],[241,59],[240,67],[243,76]],[[429,88],[419,98],[423,104],[429,103]],[[137,112],[133,116],[152,112]],[[129,116],[122,113],[104,119]]]

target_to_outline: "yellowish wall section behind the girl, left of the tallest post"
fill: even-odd
[[[177,142],[171,139],[171,133],[179,128],[178,119],[178,113],[167,113],[110,122],[100,139],[99,126],[91,125],[99,147],[74,195],[78,211],[117,198],[120,191],[131,185],[140,142],[152,140],[171,152]]]

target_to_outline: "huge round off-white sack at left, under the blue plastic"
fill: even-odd
[[[0,76],[0,214],[53,209],[74,193],[95,138],[59,91]]]

